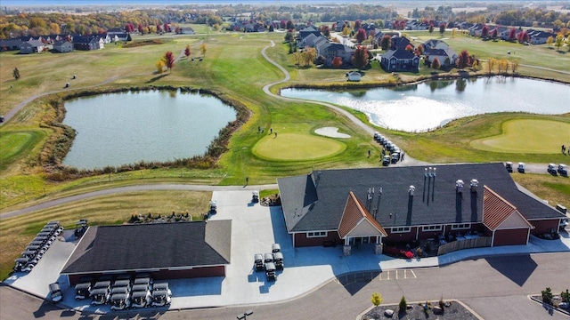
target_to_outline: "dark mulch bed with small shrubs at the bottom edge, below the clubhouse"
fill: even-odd
[[[372,308],[368,313],[362,316],[362,320],[388,320],[388,319],[409,319],[409,320],[477,320],[477,317],[473,315],[467,308],[463,307],[457,301],[449,301],[449,306],[444,307],[444,312],[440,315],[434,314],[433,309],[428,308],[427,312],[424,312],[424,303],[419,305],[418,303],[409,303],[408,309],[405,313],[398,314],[398,305],[380,305],[378,308]],[[437,301],[431,301],[432,307],[439,306]],[[394,310],[394,316],[385,316],[384,312],[387,309]]]

